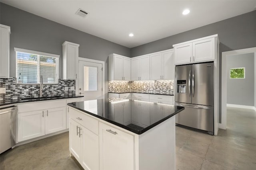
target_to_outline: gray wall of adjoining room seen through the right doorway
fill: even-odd
[[[230,68],[245,67],[245,78],[230,79]],[[254,53],[227,57],[227,104],[254,106]]]

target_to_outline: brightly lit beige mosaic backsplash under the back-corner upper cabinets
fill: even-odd
[[[158,81],[109,81],[109,93],[174,94],[174,80]]]

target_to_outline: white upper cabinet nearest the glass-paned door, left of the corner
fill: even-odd
[[[111,54],[108,56],[108,79],[131,80],[131,59],[122,55]]]

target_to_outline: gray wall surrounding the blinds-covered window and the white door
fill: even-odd
[[[108,55],[130,57],[130,49],[105,39],[47,20],[18,8],[0,3],[0,23],[11,27],[10,77],[16,77],[14,47],[60,55],[59,78],[62,78],[62,43],[80,44],[79,57],[105,61],[108,80]],[[105,91],[107,92],[107,86]]]

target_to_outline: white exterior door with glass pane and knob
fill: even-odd
[[[78,94],[83,100],[102,99],[102,64],[79,60]]]

